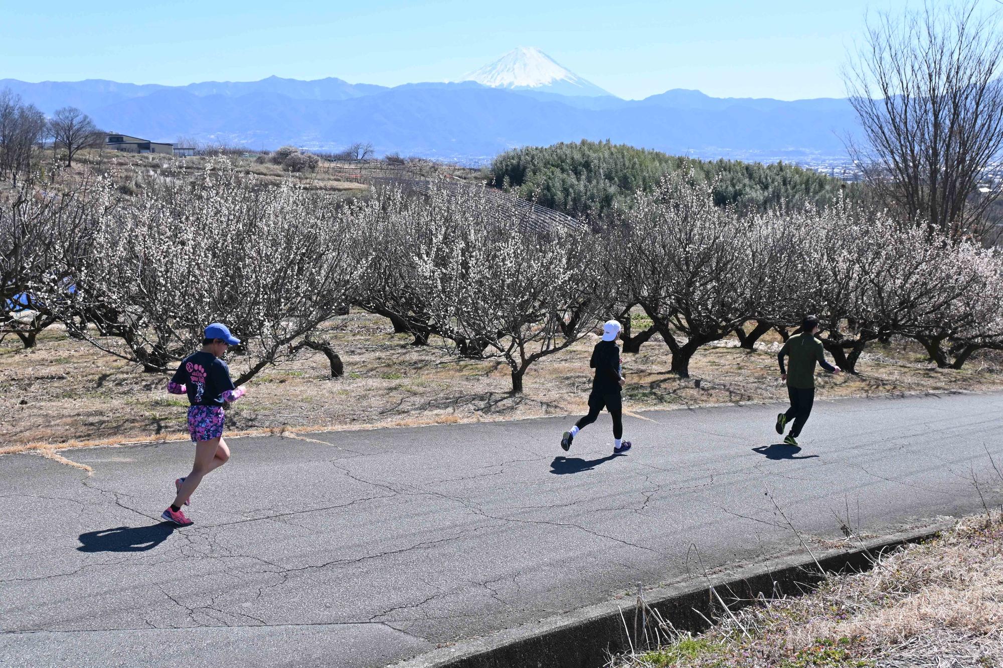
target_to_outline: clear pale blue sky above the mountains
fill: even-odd
[[[396,85],[455,79],[516,46],[538,46],[628,98],[669,88],[715,96],[842,96],[840,66],[869,7],[905,5],[0,0],[0,78],[184,84],[276,74]]]

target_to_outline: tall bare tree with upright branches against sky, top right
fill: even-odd
[[[1003,194],[979,193],[1003,146],[1003,39],[977,0],[880,14],[844,77],[863,126],[852,155],[903,220],[981,235]]]

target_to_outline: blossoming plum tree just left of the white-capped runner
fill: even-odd
[[[532,364],[599,323],[595,242],[587,230],[535,227],[515,200],[477,187],[443,195],[436,203],[433,192],[431,202],[452,209],[435,239],[444,262],[422,272],[433,293],[430,310],[462,339],[483,342],[485,357],[505,360],[512,391],[521,393]]]

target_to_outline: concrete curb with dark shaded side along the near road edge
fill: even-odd
[[[864,541],[851,550],[816,552],[815,558],[825,573],[866,571],[878,555],[933,538],[955,524],[952,520],[900,532]],[[796,555],[647,591],[645,600],[649,608],[657,610],[675,628],[695,633],[707,628],[706,619],[720,616],[722,610],[717,596],[735,610],[760,594],[767,599],[796,595],[822,580],[824,576],[819,574],[814,559]],[[633,596],[626,596],[620,601],[609,601],[436,649],[395,663],[393,667],[602,668],[611,654],[630,649],[623,620],[633,624],[634,607]]]

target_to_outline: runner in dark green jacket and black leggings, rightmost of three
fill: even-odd
[[[818,318],[806,316],[801,323],[801,332],[788,338],[776,360],[780,364],[780,378],[787,382],[787,396],[790,397],[790,408],[776,416],[776,433],[783,433],[783,427],[793,420],[790,432],[783,439],[788,445],[796,445],[795,440],[801,433],[804,423],[811,413],[814,403],[814,365],[831,373],[840,373],[842,369],[825,361],[825,348],[814,335],[818,332]],[[783,366],[783,357],[790,357],[789,372]]]

